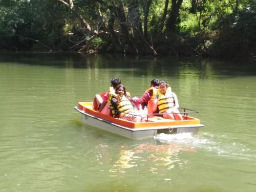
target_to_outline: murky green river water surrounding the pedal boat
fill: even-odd
[[[73,107],[120,77],[132,96],[163,79],[205,125],[130,140]],[[0,191],[256,191],[256,61],[0,54]]]

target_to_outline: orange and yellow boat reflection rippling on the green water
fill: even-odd
[[[121,146],[120,156],[114,167],[109,172],[126,172],[127,168],[151,164],[150,171],[158,174],[158,167],[172,169],[177,166],[182,167],[184,162],[178,159],[180,152],[196,152],[194,148],[184,147],[176,144],[148,144],[142,143],[134,149]],[[138,165],[139,164],[139,165]]]

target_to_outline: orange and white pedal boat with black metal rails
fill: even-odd
[[[74,109],[81,113],[82,122],[131,139],[153,138],[160,133],[194,133],[204,126],[200,124],[199,119],[188,116],[190,113],[198,112],[186,108],[179,108],[184,110],[181,112],[184,119],[182,121],[164,119],[159,114],[145,114],[146,122],[131,122],[101,114],[93,110],[92,102],[78,102]],[[148,115],[152,117],[148,117]]]

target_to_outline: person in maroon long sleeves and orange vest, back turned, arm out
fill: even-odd
[[[150,83],[150,88],[145,91],[145,93],[140,97],[133,97],[133,103],[138,107],[142,106],[142,109],[146,106],[147,113],[152,114],[157,111],[157,89],[159,86],[158,79],[152,79]]]

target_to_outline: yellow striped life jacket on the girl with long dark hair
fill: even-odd
[[[117,105],[117,109],[112,104],[110,105],[110,109],[112,111],[113,117],[123,117],[126,113],[132,113],[134,111],[131,101],[124,95],[122,96],[120,103]],[[118,110],[119,113],[117,113],[116,110]]]

